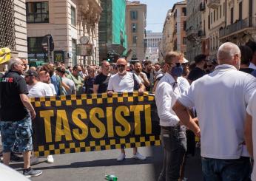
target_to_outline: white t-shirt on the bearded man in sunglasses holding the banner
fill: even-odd
[[[135,80],[141,83],[141,80],[137,75],[133,74]],[[110,77],[109,85],[107,90],[113,92],[133,92],[134,89],[134,78],[131,72],[127,72],[126,75],[120,76],[118,73]]]

